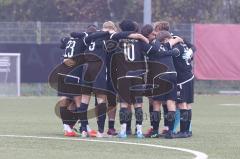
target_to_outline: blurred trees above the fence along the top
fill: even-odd
[[[0,0],[0,21],[143,22],[144,0]],[[152,20],[239,23],[239,0],[152,0]]]

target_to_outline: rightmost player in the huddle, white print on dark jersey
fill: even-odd
[[[180,131],[175,135],[177,138],[191,136],[190,123],[192,109],[190,104],[194,101],[194,75],[192,73],[193,50],[185,43],[178,43],[174,46],[180,51],[180,56],[173,58],[177,71],[178,99],[177,106],[180,109]]]

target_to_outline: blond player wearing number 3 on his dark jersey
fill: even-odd
[[[115,25],[108,21],[103,24],[103,29],[102,32],[98,32],[95,34],[92,34],[88,36],[85,39],[85,42],[89,44],[88,47],[88,52],[86,54],[94,54],[97,59],[86,59],[88,61],[88,66],[93,69],[92,71],[86,72],[86,76],[92,78],[93,76],[95,77],[96,75],[93,73],[94,69],[101,68],[98,72],[98,75],[96,76],[96,80],[93,83],[88,83],[89,87],[83,90],[83,95],[82,95],[82,103],[80,106],[79,111],[81,112],[86,112],[88,108],[88,103],[90,100],[90,95],[91,93],[96,94],[97,96],[97,111],[98,111],[98,133],[97,137],[104,137],[105,134],[104,132],[104,123],[106,119],[106,95],[108,94],[108,86],[107,86],[107,53],[106,50],[107,48],[104,48],[106,45],[106,41],[109,39],[117,39],[120,37],[131,37],[134,35],[130,35],[130,32],[128,33],[123,33],[119,34],[116,33],[116,27]],[[87,82],[86,82],[87,83]],[[115,103],[114,103],[115,105]],[[84,120],[86,120],[87,115],[84,115],[81,120],[82,127],[85,128],[84,126],[86,123]],[[85,128],[86,129],[86,128]]]

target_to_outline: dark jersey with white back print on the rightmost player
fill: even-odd
[[[179,43],[174,46],[180,51],[180,55],[174,57],[174,65],[177,71],[178,83],[184,82],[193,77],[191,59],[193,51],[186,44]]]

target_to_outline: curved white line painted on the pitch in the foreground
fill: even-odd
[[[79,139],[79,138],[62,138],[62,137],[44,137],[44,136],[24,136],[24,135],[0,135],[0,137],[11,137],[11,138],[32,138],[32,139],[48,139],[48,140],[67,140],[67,141],[87,141],[87,142],[99,142],[99,143],[112,143],[112,144],[125,144],[125,145],[136,145],[136,146],[146,146],[146,147],[157,147],[162,149],[177,150],[182,152],[191,153],[195,156],[194,159],[207,159],[208,155],[203,152],[179,148],[179,147],[169,147],[162,145],[153,144],[143,144],[134,142],[121,142],[121,141],[106,141],[106,140],[94,140],[94,139]]]

